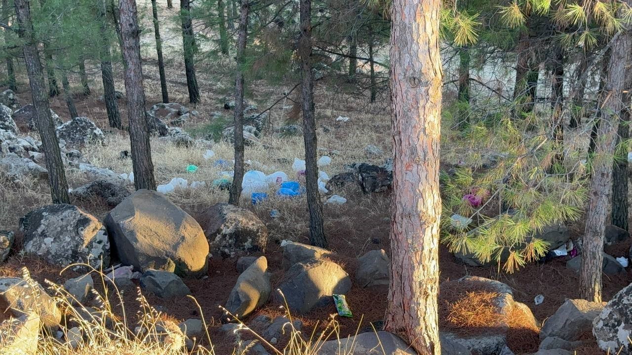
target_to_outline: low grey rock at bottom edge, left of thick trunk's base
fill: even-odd
[[[322,344],[319,355],[416,355],[400,337],[389,332],[367,332]]]

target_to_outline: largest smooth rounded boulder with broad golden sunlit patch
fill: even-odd
[[[138,190],[107,214],[112,250],[126,265],[179,276],[206,273],[209,243],[198,222],[161,193]]]

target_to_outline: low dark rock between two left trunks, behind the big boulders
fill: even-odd
[[[123,179],[99,179],[73,189],[70,196],[80,202],[94,202],[98,198],[109,207],[116,207],[130,196],[130,190]]]

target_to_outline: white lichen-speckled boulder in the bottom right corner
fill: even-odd
[[[632,354],[632,284],[617,292],[592,324],[600,349],[611,354]]]

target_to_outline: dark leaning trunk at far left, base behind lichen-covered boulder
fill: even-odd
[[[44,71],[37,52],[37,40],[33,33],[28,0],[15,0],[14,3],[18,17],[18,35],[23,40],[28,82],[37,116],[37,128],[42,139],[44,160],[46,161],[49,183],[51,184],[52,203],[70,203],[66,172],[64,172],[64,163],[61,160],[55,124],[51,117],[51,108],[46,93],[46,84],[44,83]]]

